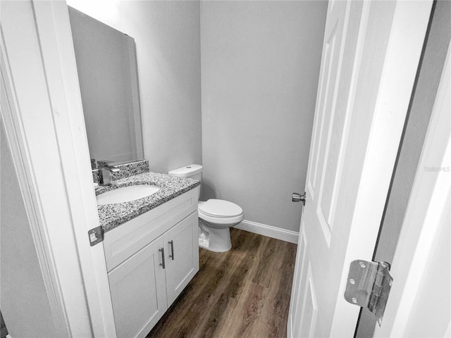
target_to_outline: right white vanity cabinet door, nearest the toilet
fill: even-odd
[[[168,306],[171,306],[199,271],[198,227],[197,211],[195,211],[163,234]]]

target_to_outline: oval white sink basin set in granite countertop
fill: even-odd
[[[98,205],[123,203],[150,196],[158,192],[159,189],[161,188],[149,184],[130,185],[99,194],[96,199]]]

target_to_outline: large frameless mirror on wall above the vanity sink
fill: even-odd
[[[89,145],[97,161],[144,157],[135,40],[68,7]]]

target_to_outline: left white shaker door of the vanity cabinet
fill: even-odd
[[[118,338],[145,337],[167,309],[163,245],[157,238],[108,274]]]

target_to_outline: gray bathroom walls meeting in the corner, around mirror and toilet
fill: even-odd
[[[203,164],[204,199],[299,230],[327,1],[68,4],[135,39],[151,170]]]

